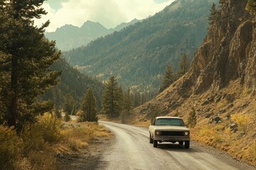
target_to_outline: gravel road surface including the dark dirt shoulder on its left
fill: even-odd
[[[58,155],[59,169],[256,169],[213,147],[191,142],[191,148],[162,143],[149,144],[147,128],[101,122],[112,130],[111,140],[97,140],[81,153]]]

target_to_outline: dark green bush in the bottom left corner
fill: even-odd
[[[15,169],[22,148],[22,141],[16,131],[0,126],[0,144],[1,169]]]

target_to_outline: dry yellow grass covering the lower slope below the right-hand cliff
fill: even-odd
[[[191,129],[192,140],[221,149],[233,157],[256,165],[256,98],[251,91],[241,86],[240,81],[232,81],[219,91],[210,89],[182,100],[183,98],[177,97],[175,90],[169,89],[150,101],[150,105],[159,106],[160,111],[168,109],[165,115],[174,116],[178,111],[183,120],[188,118],[191,106],[194,106],[198,123]],[[208,98],[212,98],[212,101],[205,103]],[[181,101],[181,106],[174,109],[164,108],[164,103],[174,100]],[[136,124],[144,125],[144,118],[148,118],[149,114],[146,108],[144,105],[134,110],[133,113],[137,114]],[[221,118],[221,123],[210,124],[210,118],[217,115]],[[238,124],[236,132],[230,130],[233,123]]]

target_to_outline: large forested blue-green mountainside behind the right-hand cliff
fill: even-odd
[[[178,69],[206,37],[210,6],[218,0],[177,0],[163,11],[87,46],[63,52],[81,72],[105,81],[114,74],[132,90],[158,91],[167,63]]]

